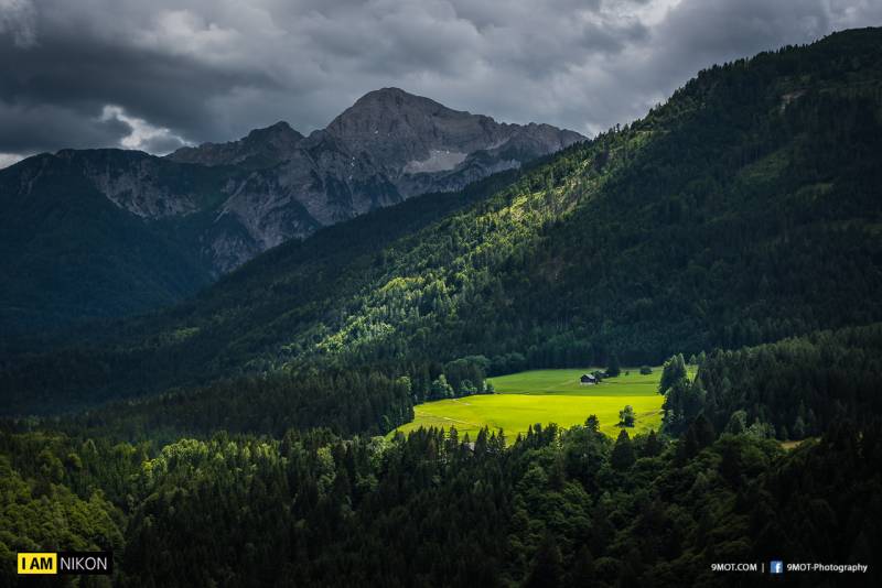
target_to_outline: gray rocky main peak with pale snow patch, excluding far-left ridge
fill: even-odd
[[[548,124],[498,123],[384,88],[305,138],[279,122],[168,159],[250,172],[227,189],[218,226],[209,231],[215,268],[225,272],[316,228],[419,194],[460,189],[583,139]]]

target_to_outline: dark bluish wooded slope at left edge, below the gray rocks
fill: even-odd
[[[150,159],[115,150],[105,156],[133,160],[132,165]],[[30,337],[31,329],[57,328],[73,319],[168,306],[212,280],[200,252],[183,246],[185,224],[150,224],[122,210],[83,176],[83,165],[76,157],[46,154],[0,172],[6,210],[0,219],[0,328],[7,339],[0,345],[11,345],[12,335]],[[169,182],[212,189],[213,181],[194,166],[168,166],[192,170],[183,178],[170,170]],[[20,189],[23,184],[30,186],[26,193]]]

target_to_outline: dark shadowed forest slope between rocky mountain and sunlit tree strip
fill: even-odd
[[[115,396],[205,383],[220,374],[275,370],[302,351],[299,344],[279,348],[276,342],[306,328],[304,322],[315,314],[333,314],[331,301],[351,287],[355,274],[370,276],[381,271],[389,242],[485,197],[518,173],[491,176],[461,193],[412,198],[322,229],[305,241],[286,243],[225,275],[216,288],[159,315],[121,325],[86,325],[49,342],[19,339],[28,352],[12,352],[14,339],[0,340],[0,391],[7,401],[0,412],[61,412]],[[273,277],[266,283],[269,275]],[[297,306],[300,309],[291,312]],[[186,318],[193,315],[212,318],[206,323]],[[181,320],[185,324],[178,324]],[[255,325],[269,330],[254,331]],[[34,351],[49,345],[61,349]],[[272,360],[256,352],[268,345],[280,353]],[[225,347],[227,351],[222,351]],[[507,367],[520,367],[516,355]],[[487,371],[484,364],[482,369]],[[428,390],[428,384],[420,384],[420,390]],[[47,396],[52,403],[43,402]]]

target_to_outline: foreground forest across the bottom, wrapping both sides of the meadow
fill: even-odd
[[[112,549],[120,586],[743,586],[711,564],[772,558],[874,586],[880,348],[880,326],[820,333],[699,355],[695,378],[675,356],[663,429],[615,439],[592,415],[372,437],[410,418],[411,382],[353,372],[7,421],[0,585],[64,546]]]

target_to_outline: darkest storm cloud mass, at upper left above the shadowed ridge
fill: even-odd
[[[78,8],[71,2],[63,12]],[[34,12],[42,15],[44,10],[50,11],[49,3],[37,4]],[[121,105],[132,116],[184,135],[212,137],[215,122],[206,102],[239,86],[278,86],[245,64],[211,63],[178,54],[171,46],[101,34],[96,29],[114,30],[114,22],[101,24],[100,14],[92,30],[80,29],[73,14],[73,22],[66,17],[37,20],[29,45],[21,45],[15,34],[0,35],[0,117],[44,120],[24,134],[7,132],[3,126],[0,151],[116,144],[126,126],[99,120],[106,105]],[[53,134],[54,141],[45,140]]]

